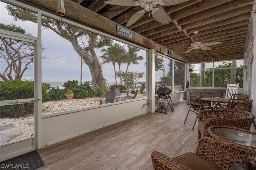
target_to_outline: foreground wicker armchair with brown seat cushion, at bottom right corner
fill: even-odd
[[[233,142],[202,137],[198,141],[196,154],[186,153],[169,158],[160,152],[152,152],[154,170],[229,170],[236,164],[248,161],[256,168],[256,148]]]

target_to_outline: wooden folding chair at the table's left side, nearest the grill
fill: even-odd
[[[204,107],[202,107],[202,103],[199,99],[199,97],[194,96],[194,95],[189,95],[190,97],[190,107],[188,109],[188,113],[186,115],[185,123],[188,123],[189,125],[193,126],[192,130],[194,129],[195,125],[196,125],[196,121],[198,119],[198,113],[201,109],[204,109]],[[192,119],[192,117],[189,117],[188,114],[190,112],[196,113],[196,119]]]

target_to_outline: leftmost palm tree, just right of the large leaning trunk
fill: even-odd
[[[112,62],[114,66],[114,73],[115,73],[115,80],[116,80],[116,62],[117,62],[117,54],[118,54],[118,44],[115,43],[114,45],[111,44],[107,49],[102,49],[101,52],[104,52],[100,58],[103,59],[101,64],[110,63]],[[117,80],[116,80],[117,85]]]

